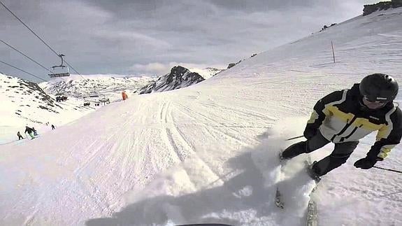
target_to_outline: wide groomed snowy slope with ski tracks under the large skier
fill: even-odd
[[[401,8],[355,17],[203,83],[1,146],[1,225],[304,225],[310,187],[295,168],[306,155],[285,165],[287,209],[273,204],[278,149],[289,145],[278,140],[301,134],[324,94],[368,73],[402,81],[401,22]],[[322,179],[320,225],[402,225],[402,176],[353,167],[374,135]],[[378,165],[401,170],[401,146]]]

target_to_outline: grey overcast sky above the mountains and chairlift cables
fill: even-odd
[[[361,15],[377,0],[0,0],[78,73],[162,75],[177,64],[226,68]],[[0,5],[0,41],[49,68],[60,60]],[[0,42],[0,61],[47,79]],[[40,81],[0,62],[0,71]],[[72,73],[74,71],[71,69]]]

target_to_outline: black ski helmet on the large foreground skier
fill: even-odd
[[[391,76],[384,73],[373,73],[361,80],[360,94],[368,101],[391,102],[398,94],[398,83]]]

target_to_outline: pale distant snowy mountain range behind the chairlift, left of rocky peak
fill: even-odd
[[[62,93],[69,97],[83,98],[96,94],[110,98],[110,101],[121,99],[121,92],[135,94],[141,87],[152,83],[152,77],[117,77],[117,76],[77,76],[57,78],[39,85],[47,93]]]

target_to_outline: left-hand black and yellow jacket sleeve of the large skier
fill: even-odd
[[[336,101],[340,101],[343,98],[345,92],[346,90],[331,92],[330,94],[320,99],[317,104],[315,104],[313,108],[313,113],[311,113],[311,117],[307,122],[306,129],[304,129],[304,134],[315,134],[320,125],[322,125],[324,119],[331,115],[331,111],[329,111],[329,106],[336,104]]]

